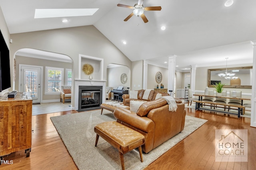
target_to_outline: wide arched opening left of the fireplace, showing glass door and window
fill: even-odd
[[[15,89],[30,92],[34,104],[60,102],[61,86],[72,84],[73,61],[67,55],[24,48],[16,51],[14,63]],[[59,83],[48,80],[48,70],[60,70]]]

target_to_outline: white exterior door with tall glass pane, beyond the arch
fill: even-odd
[[[33,103],[40,103],[42,66],[19,64],[19,70],[19,91],[29,92]]]

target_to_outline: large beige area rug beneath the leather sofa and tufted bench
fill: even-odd
[[[118,150],[101,137],[95,147],[96,133],[94,126],[105,121],[116,121],[112,112],[104,109],[86,111],[69,115],[50,117],[64,145],[80,170],[122,169]],[[143,153],[144,162],[140,161],[137,149],[124,154],[126,170],[141,170],[164,154],[182,139],[186,138],[207,120],[186,116],[184,131],[172,137],[148,154]]]

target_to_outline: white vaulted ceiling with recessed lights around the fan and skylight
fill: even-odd
[[[0,0],[10,33],[22,33],[82,25],[94,25],[131,61],[147,59],[164,64],[176,55],[178,68],[190,65],[214,66],[252,63],[251,40],[256,39],[256,1],[234,0],[144,0],[144,7],[161,6],[161,11],[145,11],[148,23],[132,16],[138,0]],[[99,8],[92,16],[34,18],[35,9]],[[165,26],[163,31],[161,26]],[[126,41],[126,45],[122,42]]]

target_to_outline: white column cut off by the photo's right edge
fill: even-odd
[[[256,40],[251,41],[251,43],[253,45],[251,126],[256,127]]]

